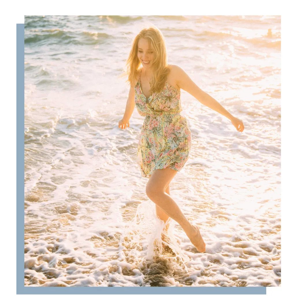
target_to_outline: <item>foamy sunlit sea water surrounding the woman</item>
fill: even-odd
[[[118,128],[135,35],[243,120],[181,91],[192,150],[170,195],[206,242],[169,233],[136,163],[144,121]],[[25,16],[25,285],[281,285],[280,16]]]

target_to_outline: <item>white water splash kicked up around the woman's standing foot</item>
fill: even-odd
[[[174,274],[186,274],[185,262],[190,258],[183,253],[174,234],[174,221],[166,223],[157,218],[155,204],[147,200],[138,205],[134,219],[128,224],[120,244],[127,262],[138,262],[138,269],[150,286],[171,286]]]

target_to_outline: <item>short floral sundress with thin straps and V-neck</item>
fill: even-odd
[[[134,91],[138,113],[145,116],[137,150],[142,177],[167,167],[179,172],[191,151],[191,130],[187,119],[180,114],[180,90],[166,80],[160,93],[146,98],[141,89],[140,74]]]

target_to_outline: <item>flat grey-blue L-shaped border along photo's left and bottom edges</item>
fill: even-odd
[[[266,294],[266,287],[25,287],[25,25],[17,24],[17,270],[16,294]]]

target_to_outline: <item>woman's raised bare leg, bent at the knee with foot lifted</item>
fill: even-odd
[[[174,169],[156,169],[146,185],[146,194],[165,214],[175,220],[185,231],[192,244],[200,251],[206,250],[206,244],[201,237],[199,228],[192,225],[181,212],[176,202],[165,193],[177,171]]]

